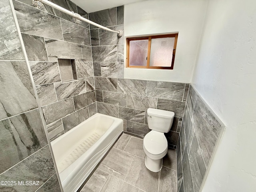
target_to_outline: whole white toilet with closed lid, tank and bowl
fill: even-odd
[[[150,131],[143,140],[146,153],[145,166],[152,172],[158,172],[163,165],[163,157],[167,154],[168,143],[164,133],[170,131],[174,112],[148,108],[148,128]]]

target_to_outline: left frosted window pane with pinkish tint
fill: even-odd
[[[147,66],[148,40],[130,41],[129,65]]]

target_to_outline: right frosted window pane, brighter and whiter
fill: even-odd
[[[150,66],[170,67],[175,37],[151,39]]]

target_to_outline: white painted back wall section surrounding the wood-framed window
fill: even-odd
[[[148,0],[125,5],[126,37],[179,32],[174,70],[125,68],[125,78],[191,82],[206,8],[206,0]]]

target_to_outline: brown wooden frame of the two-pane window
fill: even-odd
[[[159,66],[150,66],[150,51],[151,51],[151,40],[156,38],[165,38],[165,37],[174,37],[174,47],[172,52],[172,64],[170,67],[159,67]],[[147,66],[130,66],[129,65],[129,56],[130,56],[130,41],[133,40],[148,40],[148,58],[147,58]],[[167,34],[167,35],[154,35],[154,36],[144,36],[144,37],[134,37],[134,38],[126,38],[126,67],[127,68],[144,68],[144,69],[173,69],[174,59],[176,53],[176,46],[178,40],[178,33],[175,34]]]

